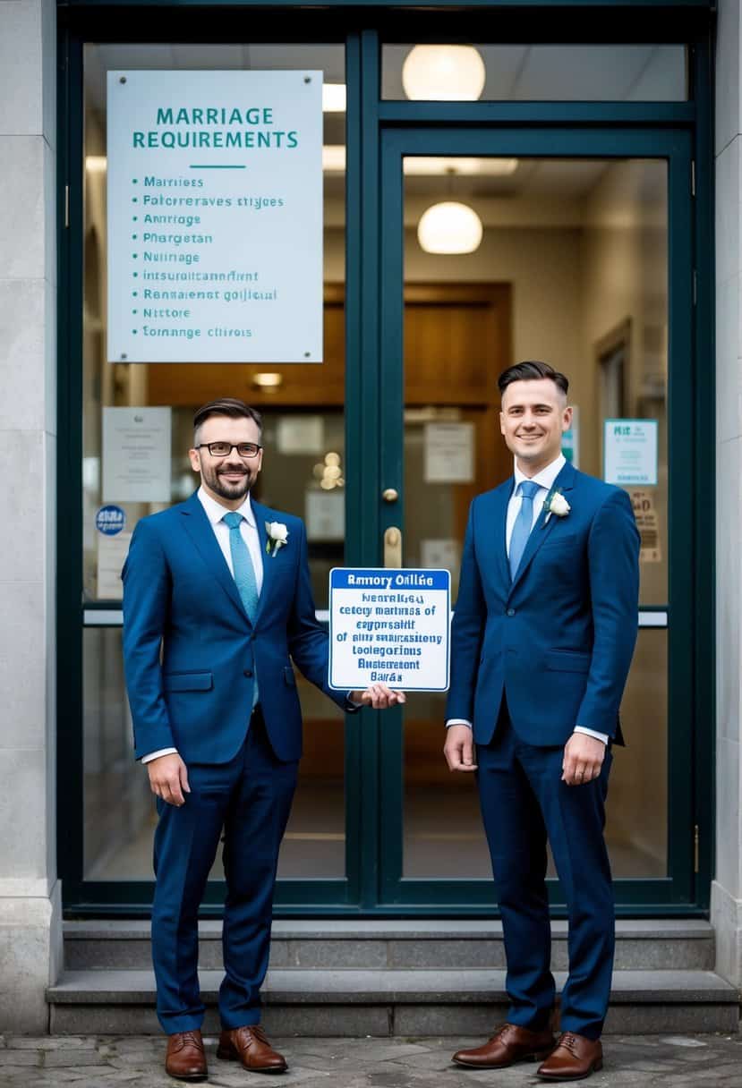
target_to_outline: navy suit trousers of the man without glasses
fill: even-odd
[[[561,781],[564,746],[521,741],[505,701],[495,734],[478,745],[484,828],[503,918],[508,1021],[541,1029],[555,1000],[546,894],[546,839],[567,899],[569,977],[561,992],[561,1030],[597,1039],[614,962],[615,913],[603,838],[613,755],[584,786]]]

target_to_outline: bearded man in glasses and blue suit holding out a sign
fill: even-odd
[[[327,687],[299,518],[250,497],[261,420],[223,398],[194,418],[201,485],[144,518],[123,570],[124,664],[135,753],[157,794],[152,959],[166,1072],[203,1080],[198,907],[224,833],[224,969],[218,1056],[286,1070],[260,1027],[279,848],[301,755],[292,659],[346,710],[404,702],[383,684]]]

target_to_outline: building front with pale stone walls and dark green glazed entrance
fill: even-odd
[[[651,482],[629,489],[642,596],[609,808],[617,904],[710,917],[717,970],[742,985],[739,3],[555,5],[537,36],[527,3],[213,4],[206,23],[187,3],[0,4],[0,1026],[47,1028],[64,917],[146,918],[151,898],[126,535],[99,531],[101,507],[128,532],[185,497],[193,409],[237,395],[264,413],[262,497],[307,520],[321,619],[329,570],[393,565],[399,537],[405,565],[449,567],[455,590],[468,503],[508,472],[494,379],[529,357],[571,378],[580,468],[608,471],[618,421],[656,435]],[[470,44],[475,92],[415,86],[421,46]],[[109,362],[107,73],[242,69],[341,88],[323,115],[324,361]],[[449,201],[479,221],[467,252],[424,237]],[[116,497],[107,412],[143,408],[166,413],[169,494]],[[473,793],[440,756],[441,696],[359,728],[301,694],[276,913],[495,915]]]

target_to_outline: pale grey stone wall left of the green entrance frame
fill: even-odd
[[[55,39],[53,0],[0,0],[0,1031],[25,1033],[61,960]]]

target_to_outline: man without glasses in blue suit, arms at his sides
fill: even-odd
[[[626,492],[561,455],[572,417],[564,374],[521,362],[498,384],[515,475],[469,514],[445,756],[450,770],[477,771],[510,1010],[492,1039],[454,1061],[502,1068],[540,1058],[542,1079],[576,1080],[603,1064],[615,930],[603,828],[636,640],[639,533]],[[569,912],[556,1047],[547,839]]]

